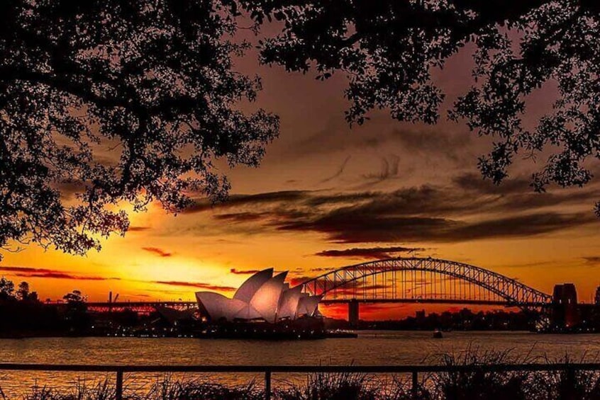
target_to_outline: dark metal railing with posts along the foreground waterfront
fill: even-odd
[[[265,399],[272,395],[274,373],[365,373],[409,374],[413,392],[419,389],[418,375],[449,372],[565,372],[574,385],[579,371],[600,371],[600,363],[495,364],[495,365],[77,365],[0,363],[0,371],[113,372],[116,374],[116,400],[123,400],[123,375],[135,372],[262,373]]]

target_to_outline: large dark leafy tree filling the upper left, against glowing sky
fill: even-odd
[[[225,197],[215,159],[256,166],[276,116],[243,113],[260,81],[233,70],[228,0],[0,2],[0,247],[84,253],[128,229],[126,205],[170,212]]]

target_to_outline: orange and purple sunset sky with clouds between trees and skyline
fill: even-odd
[[[467,47],[435,72],[446,106],[471,83],[470,60]],[[260,74],[264,86],[256,104],[242,106],[272,110],[282,127],[260,168],[222,167],[232,183],[229,202],[211,207],[198,199],[176,217],[150,205],[130,214],[126,237],[104,241],[99,253],[28,246],[3,253],[0,275],[27,280],[42,299],[78,289],[96,301],[110,290],[120,300],[191,300],[196,290],[231,295],[253,270],[290,270],[297,282],[323,268],[409,256],[403,250],[418,248],[418,256],[478,265],[544,292],[574,282],[579,299],[591,301],[600,285],[598,181],[533,193],[536,165],[516,160],[510,178],[496,187],[477,170],[489,138],[463,124],[445,116],[435,126],[405,124],[378,110],[350,128],[343,75],[321,82],[314,74],[258,67],[253,52],[238,64]],[[528,120],[543,115],[552,93],[548,85],[528,99]],[[597,160],[590,167],[600,169]],[[370,316],[413,309],[372,307]]]

